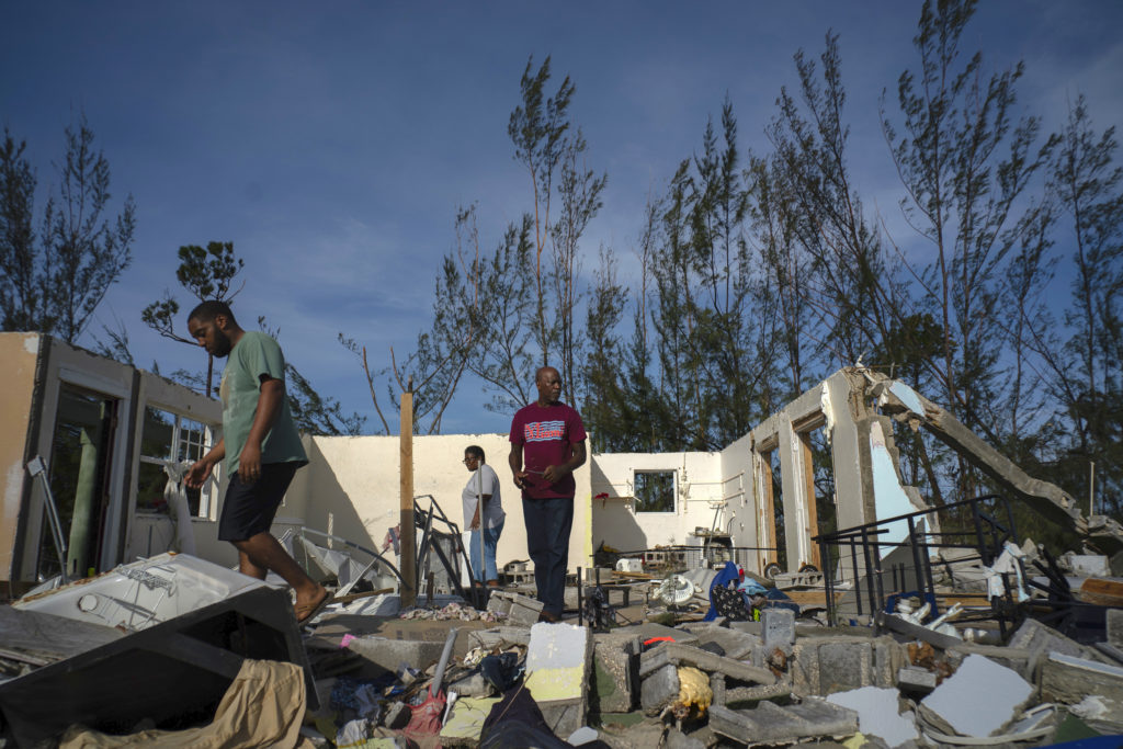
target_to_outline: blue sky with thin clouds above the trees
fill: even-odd
[[[1123,3],[980,3],[966,47],[987,71],[1024,60],[1020,102],[1046,119],[1088,97],[1098,128],[1123,121]],[[244,322],[265,314],[321,393],[371,413],[339,331],[375,366],[409,350],[430,319],[433,277],[457,207],[478,203],[492,246],[530,207],[506,136],[530,55],[572,76],[588,165],[608,172],[585,267],[628,257],[643,203],[700,147],[732,100],[742,150],[763,131],[792,55],[840,34],[858,189],[902,230],[898,184],[877,120],[883,88],[915,64],[919,2],[38,2],[0,21],[0,125],[28,141],[40,192],[63,128],[84,111],[117,198],[138,208],[134,263],[99,309],[128,329],[143,366],[199,368],[201,351],[161,339],[140,310],[179,290],[175,250],[235,243],[246,261]],[[42,208],[42,201],[39,208]],[[115,201],[117,205],[119,202]],[[90,332],[82,342],[90,345]],[[446,432],[505,431],[473,383]]]

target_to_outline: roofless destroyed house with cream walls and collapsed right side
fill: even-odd
[[[84,577],[168,550],[235,564],[234,549],[216,538],[221,471],[202,491],[176,486],[183,466],[217,439],[217,401],[49,336],[2,334],[0,353],[9,372],[0,396],[8,427],[0,442],[0,579],[10,582],[13,594],[64,567],[70,578]],[[833,517],[830,527],[848,529],[926,509],[916,488],[901,479],[895,421],[929,429],[1014,499],[1098,538],[1105,552],[1117,545],[1115,524],[1098,519],[1089,526],[1071,497],[1025,476],[904,383],[847,368],[720,451],[591,456],[575,474],[570,567],[588,568],[599,550],[612,549],[642,552],[656,568],[728,559],[758,574],[821,570],[821,546],[813,539],[824,513]],[[311,529],[329,538],[328,546],[346,539],[364,549],[389,548],[387,532],[400,518],[400,438],[304,441],[310,465],[290,487],[275,535]],[[499,563],[526,559],[506,436],[419,436],[413,442],[419,504],[435,501],[460,526],[467,477],[460,458],[468,445],[484,448],[503,479],[508,513]],[[832,467],[825,491],[815,482],[816,451],[820,464]],[[39,475],[33,475],[36,458],[45,467]],[[907,533],[902,521],[880,529],[878,538],[900,542]]]

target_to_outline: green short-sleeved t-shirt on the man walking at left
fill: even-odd
[[[275,340],[264,332],[246,332],[230,350],[222,369],[222,436],[226,439],[226,469],[229,475],[238,469],[241,448],[246,446],[249,428],[254,426],[262,375],[284,382],[284,354]],[[308,456],[300,444],[300,433],[289,410],[289,399],[281,401],[281,412],[270,433],[262,440],[262,463],[299,463],[305,465]]]

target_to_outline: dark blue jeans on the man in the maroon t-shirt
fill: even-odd
[[[555,616],[565,611],[565,575],[569,567],[573,497],[522,499],[527,522],[527,552],[535,563],[535,584],[542,610]]]

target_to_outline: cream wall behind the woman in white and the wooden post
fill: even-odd
[[[359,546],[381,549],[387,529],[401,517],[399,501],[399,437],[305,438],[311,462],[296,474],[279,517],[301,519],[304,524],[346,538]],[[478,445],[502,482],[506,522],[500,537],[496,563],[527,559],[527,530],[520,491],[514,486],[506,435],[433,435],[413,438],[413,494],[431,494],[449,519],[464,528],[460,492],[469,473],[464,448]],[[577,492],[569,567],[588,566],[590,466],[574,474]],[[426,501],[421,505],[428,506]]]

